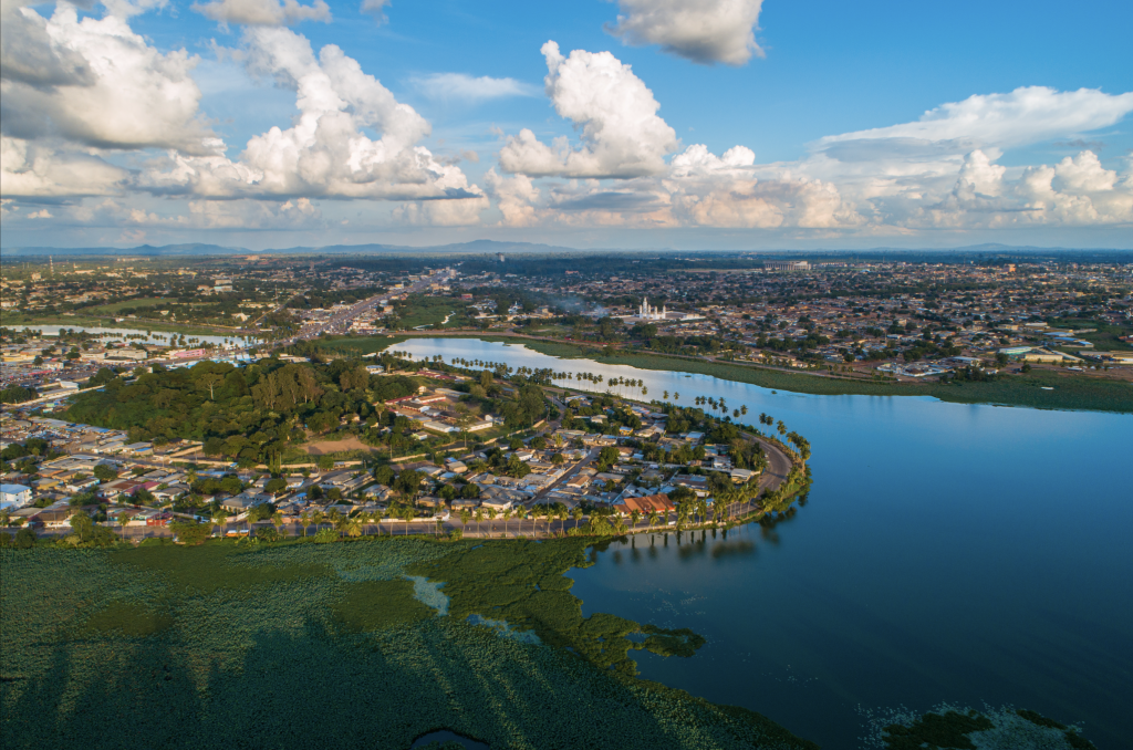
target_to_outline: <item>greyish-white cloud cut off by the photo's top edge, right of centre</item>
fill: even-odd
[[[617,0],[622,14],[608,28],[624,42],[659,44],[671,54],[740,66],[763,57],[755,29],[763,0]]]

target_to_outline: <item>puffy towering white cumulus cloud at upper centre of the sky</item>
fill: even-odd
[[[637,177],[665,170],[664,157],[679,146],[676,133],[657,116],[653,92],[610,52],[574,50],[563,57],[547,42],[547,96],[580,133],[576,147],[565,138],[554,147],[529,129],[500,152],[504,171],[537,176]]]

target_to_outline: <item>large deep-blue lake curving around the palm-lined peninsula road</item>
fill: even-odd
[[[1128,747],[1133,416],[773,393],[469,339],[391,349],[640,378],[647,399],[723,397],[810,441],[813,485],[790,520],[639,536],[573,571],[587,614],[708,639],[689,659],[639,653],[642,676],[827,749],[862,747],[870,716],[942,702],[1031,708]]]

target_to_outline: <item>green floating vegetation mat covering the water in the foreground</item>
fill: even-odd
[[[576,539],[3,549],[3,745],[816,747],[632,676],[625,634],[658,653],[697,637],[582,617],[563,572],[587,562]],[[417,598],[409,573],[429,579]]]

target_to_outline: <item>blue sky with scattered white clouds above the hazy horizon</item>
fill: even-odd
[[[0,0],[0,242],[1133,248],[1133,3]]]

